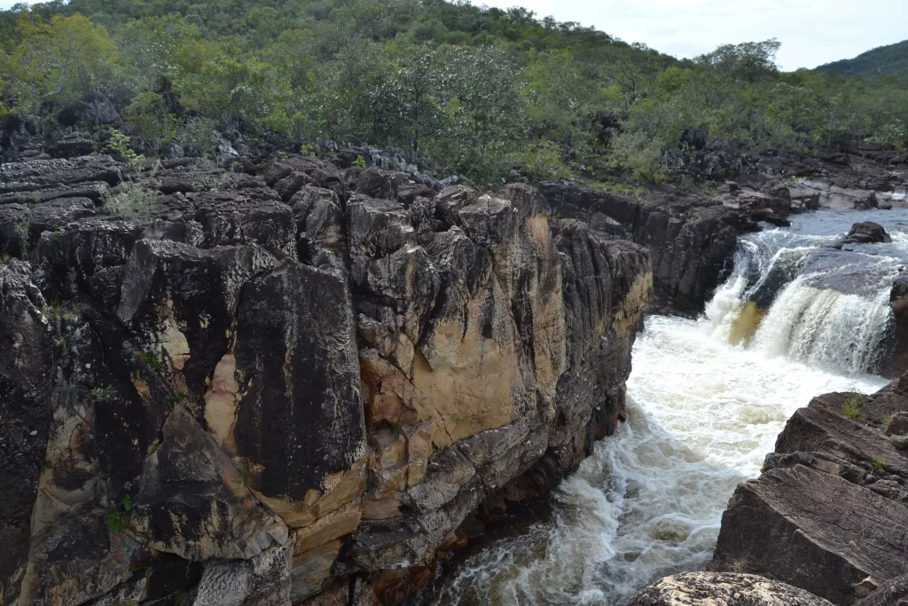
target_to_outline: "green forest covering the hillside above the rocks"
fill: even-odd
[[[781,73],[775,40],[692,60],[577,23],[443,0],[58,0],[0,13],[0,118],[52,127],[66,104],[122,99],[145,154],[212,128],[398,149],[496,184],[654,182],[694,146],[759,153],[901,147],[896,77]]]

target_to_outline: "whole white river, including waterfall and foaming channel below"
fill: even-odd
[[[824,258],[867,220],[893,243],[855,246],[850,265]],[[617,606],[659,577],[702,569],[735,485],[759,473],[788,417],[814,395],[885,384],[868,371],[890,322],[888,284],[905,264],[906,211],[823,211],[742,238],[705,318],[647,318],[627,423],[541,520],[493,530],[419,603]]]

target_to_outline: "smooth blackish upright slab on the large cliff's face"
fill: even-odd
[[[284,261],[243,287],[236,332],[237,391],[210,398],[206,417],[235,418],[218,437],[235,444],[272,509],[304,509],[365,452],[346,280]]]

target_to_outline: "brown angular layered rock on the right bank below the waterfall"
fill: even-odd
[[[908,574],[905,411],[908,375],[873,396],[827,394],[795,412],[763,475],[729,501],[713,567],[834,604],[875,603],[877,588]]]

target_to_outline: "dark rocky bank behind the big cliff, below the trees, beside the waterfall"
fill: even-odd
[[[702,154],[708,170],[697,178],[737,181],[712,190],[660,184],[633,195],[572,182],[542,184],[540,191],[559,215],[645,246],[653,260],[653,309],[691,316],[703,311],[731,270],[738,235],[761,222],[788,225],[789,215],[818,208],[906,205],[908,169],[895,154],[866,149],[822,159],[779,152],[753,158],[728,146]]]

